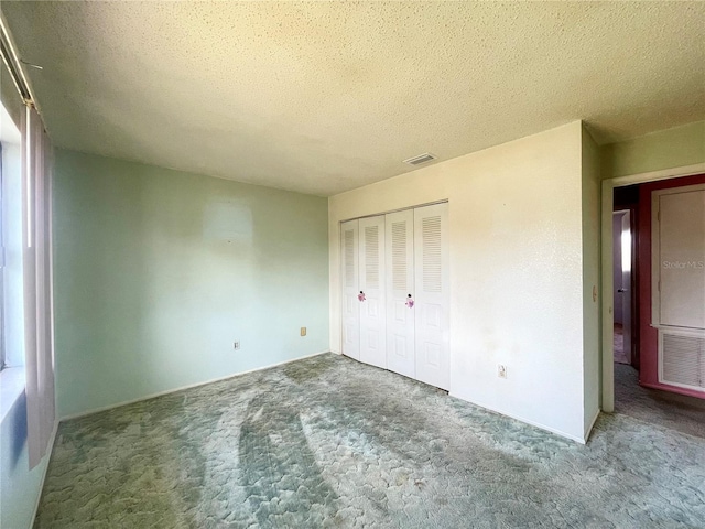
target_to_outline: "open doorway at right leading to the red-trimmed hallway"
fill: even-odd
[[[609,277],[604,276],[604,280],[605,283],[611,281],[611,295],[606,300],[611,306],[606,313],[608,320],[604,320],[603,384],[604,389],[611,386],[614,400],[611,410],[605,406],[603,409],[697,436],[705,436],[705,314],[702,313],[705,277],[699,264],[705,258],[705,209],[703,191],[697,196],[694,191],[703,190],[703,174],[621,186],[612,184],[609,190],[611,223],[604,226],[609,229],[611,244],[609,253],[604,255],[609,257]],[[693,198],[694,204],[685,204],[685,198]],[[672,206],[669,201],[677,203]],[[660,209],[655,208],[659,204]],[[603,242],[606,231],[603,231]],[[670,266],[672,261],[680,262],[679,259],[688,266]],[[603,264],[607,266],[607,259]],[[692,281],[683,287],[684,278],[681,276],[687,272]],[[676,287],[677,295],[670,295]],[[659,298],[672,301],[672,306],[659,303]],[[672,314],[691,317],[699,314],[699,320],[692,324],[682,317],[675,321]],[[609,330],[612,331],[611,347],[606,339]],[[675,339],[666,342],[663,335],[666,338],[673,335]],[[699,349],[686,347],[691,343],[699,343]],[[608,358],[612,371],[609,375]],[[676,380],[675,376],[687,380]],[[686,382],[691,387],[685,387]],[[697,384],[698,388],[693,387]],[[606,397],[605,392],[604,403]]]

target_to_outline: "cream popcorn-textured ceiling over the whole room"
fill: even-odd
[[[55,144],[330,195],[705,119],[703,2],[2,2]]]

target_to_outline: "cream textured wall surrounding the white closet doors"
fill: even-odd
[[[576,121],[332,196],[332,350],[338,223],[447,198],[452,395],[583,440],[582,133]]]

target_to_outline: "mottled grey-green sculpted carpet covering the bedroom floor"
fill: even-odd
[[[63,422],[36,528],[705,527],[705,440],[579,445],[333,354]]]

